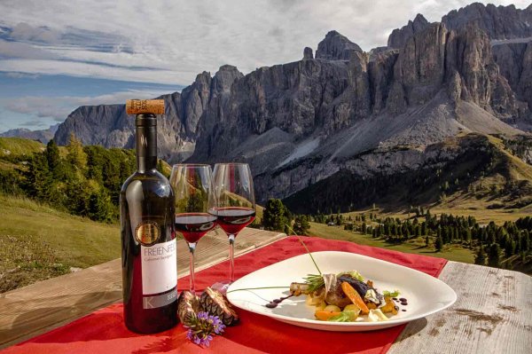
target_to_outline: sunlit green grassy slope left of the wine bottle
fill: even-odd
[[[0,293],[120,256],[116,224],[0,194]]]

